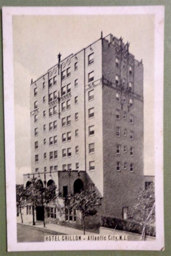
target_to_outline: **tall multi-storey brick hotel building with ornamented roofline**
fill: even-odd
[[[31,169],[65,201],[96,190],[99,214],[126,218],[144,184],[143,65],[129,43],[109,34],[58,63],[30,85]],[[57,209],[48,208],[49,218]],[[29,214],[29,206],[27,207]],[[66,221],[79,220],[65,210]],[[41,209],[37,208],[37,219]]]

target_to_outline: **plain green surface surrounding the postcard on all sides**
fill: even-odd
[[[5,154],[3,109],[3,47],[2,22],[0,19],[0,255],[171,255],[171,1],[170,0],[1,0],[2,6],[121,6],[165,5],[165,51],[164,51],[164,207],[165,251],[49,251],[7,252],[6,205],[5,205]],[[0,13],[2,16],[2,12]]]

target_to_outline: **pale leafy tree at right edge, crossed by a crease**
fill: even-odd
[[[139,191],[136,204],[132,211],[128,213],[128,218],[143,225],[141,236],[145,240],[146,225],[150,225],[155,221],[155,190],[154,183],[148,187],[142,187]]]

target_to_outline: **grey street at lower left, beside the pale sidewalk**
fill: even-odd
[[[44,236],[47,234],[61,235],[61,233],[47,232],[31,226],[17,224],[17,242],[44,242]]]

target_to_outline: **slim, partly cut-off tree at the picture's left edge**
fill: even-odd
[[[21,222],[23,223],[22,209],[25,207],[26,195],[23,185],[16,185],[16,201],[19,205],[19,212],[21,215]]]

